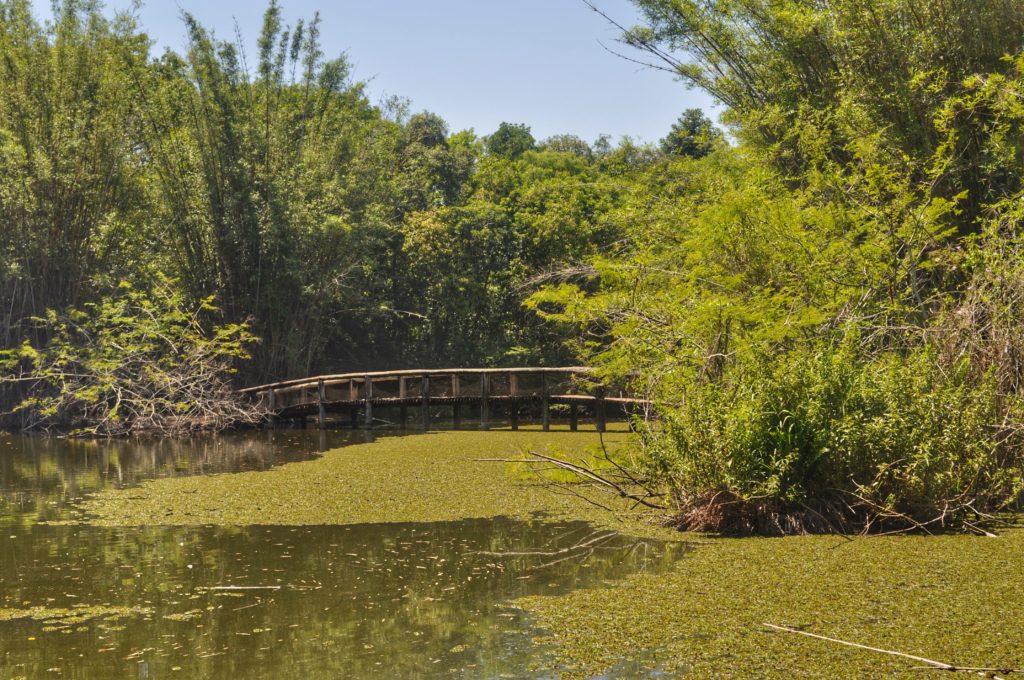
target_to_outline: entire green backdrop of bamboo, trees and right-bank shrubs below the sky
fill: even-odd
[[[728,137],[694,110],[658,146],[453,132],[275,2],[250,73],[188,17],[156,57],[96,3],[0,0],[2,345],[53,355],[129,290],[258,337],[247,382],[590,362],[656,405],[636,478],[690,528],[1018,503],[1024,5],[635,4],[624,42]]]

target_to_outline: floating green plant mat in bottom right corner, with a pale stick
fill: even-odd
[[[670,573],[520,604],[554,632],[581,677],[631,653],[656,660],[670,677],[950,675],[765,623],[961,666],[1020,669],[1024,530],[713,540]]]

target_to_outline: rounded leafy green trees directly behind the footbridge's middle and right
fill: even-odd
[[[563,329],[523,307],[531,282],[607,247],[601,217],[617,190],[574,153],[531,152],[478,162],[465,200],[410,216],[407,309],[426,362],[483,365],[565,360]],[[443,272],[452,272],[444,275]]]

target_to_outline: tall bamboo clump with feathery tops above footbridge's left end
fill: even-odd
[[[291,30],[271,2],[254,79],[232,44],[190,16],[186,28],[187,56],[165,56],[141,93],[167,266],[197,298],[252,320],[263,340],[253,378],[309,372],[358,335],[372,306],[360,297],[380,294],[367,274],[395,250],[379,177],[399,130],[344,59],[324,59],[318,17]]]

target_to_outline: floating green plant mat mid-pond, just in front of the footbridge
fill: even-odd
[[[615,447],[627,437],[604,438]],[[157,479],[106,491],[82,509],[89,523],[105,526],[429,522],[537,512],[614,523],[579,498],[552,493],[528,475],[516,478],[508,465],[479,460],[527,450],[579,456],[598,447],[599,436],[587,432],[388,436],[265,472]]]

